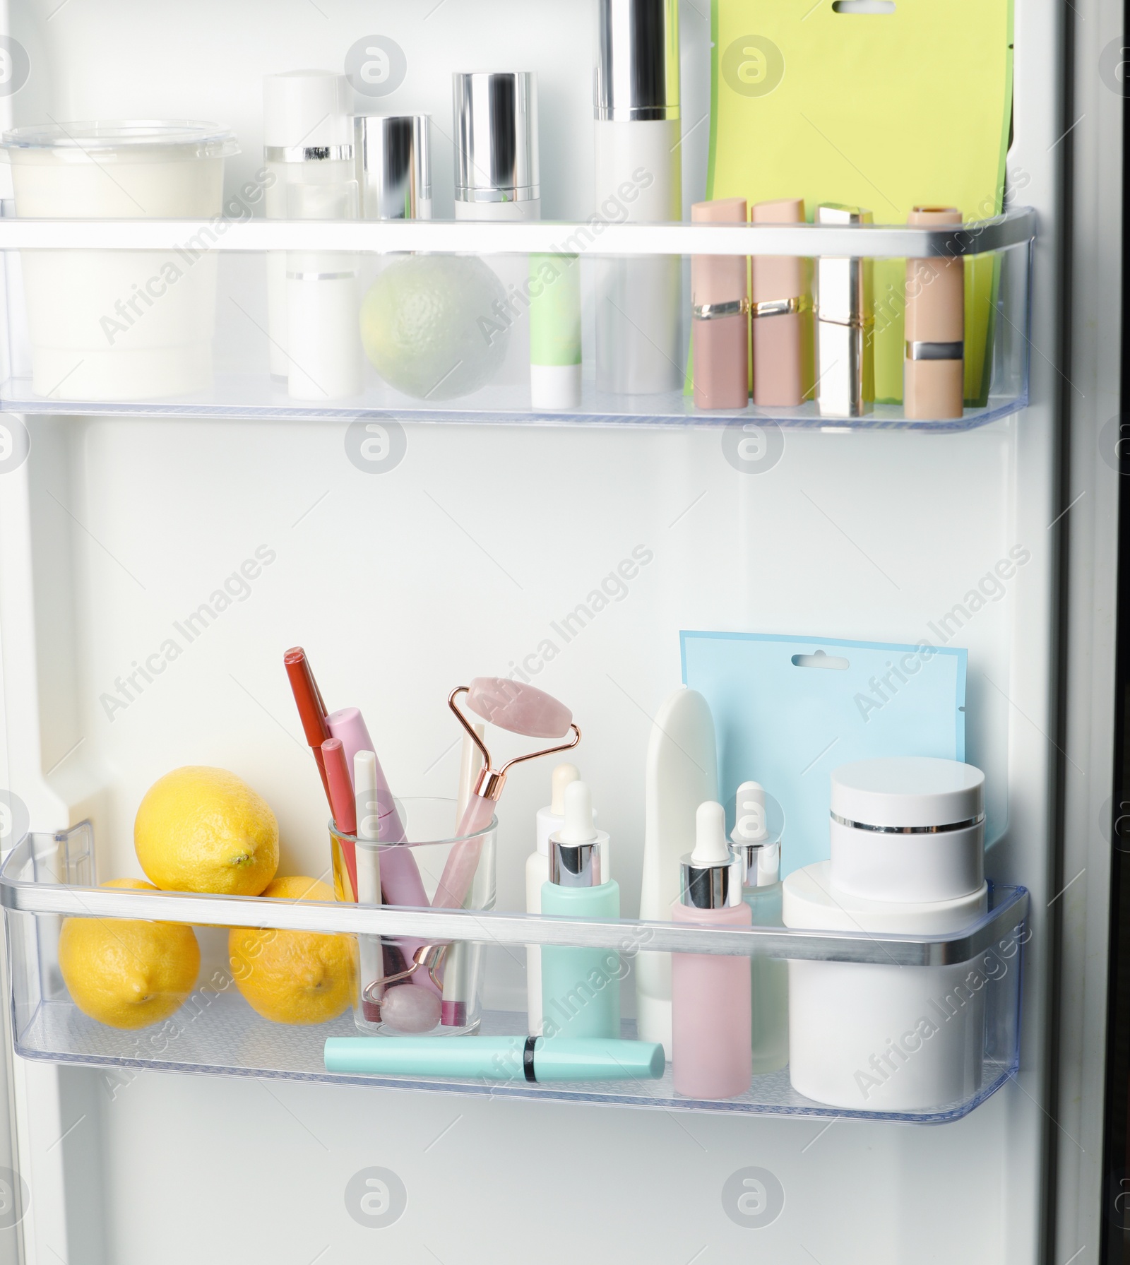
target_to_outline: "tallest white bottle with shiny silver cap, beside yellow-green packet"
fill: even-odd
[[[596,215],[682,219],[677,0],[599,0],[593,83]],[[596,385],[616,395],[682,387],[682,261],[597,259]]]

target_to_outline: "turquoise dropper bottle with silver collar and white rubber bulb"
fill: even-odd
[[[542,913],[595,920],[620,917],[619,885],[614,879],[601,882],[607,846],[607,834],[592,825],[592,793],[587,783],[571,782],[564,791],[564,825],[549,836],[549,880],[542,887]],[[543,1036],[619,1037],[620,974],[620,955],[612,949],[545,945]]]

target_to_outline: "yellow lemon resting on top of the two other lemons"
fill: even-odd
[[[146,792],[133,846],[166,891],[258,896],[278,869],[278,822],[234,773],[189,765]]]

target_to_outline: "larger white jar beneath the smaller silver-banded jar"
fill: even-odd
[[[786,927],[945,935],[988,910],[988,888],[949,901],[834,891],[829,861],[785,879]],[[857,1111],[928,1111],[981,1087],[987,974],[979,961],[897,966],[788,963],[788,1077],[806,1098]]]

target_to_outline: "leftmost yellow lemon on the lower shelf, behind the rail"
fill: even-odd
[[[102,887],[156,892],[138,878]],[[134,918],[63,918],[59,968],[71,1001],[110,1027],[147,1027],[178,1009],[200,970],[192,929]]]

